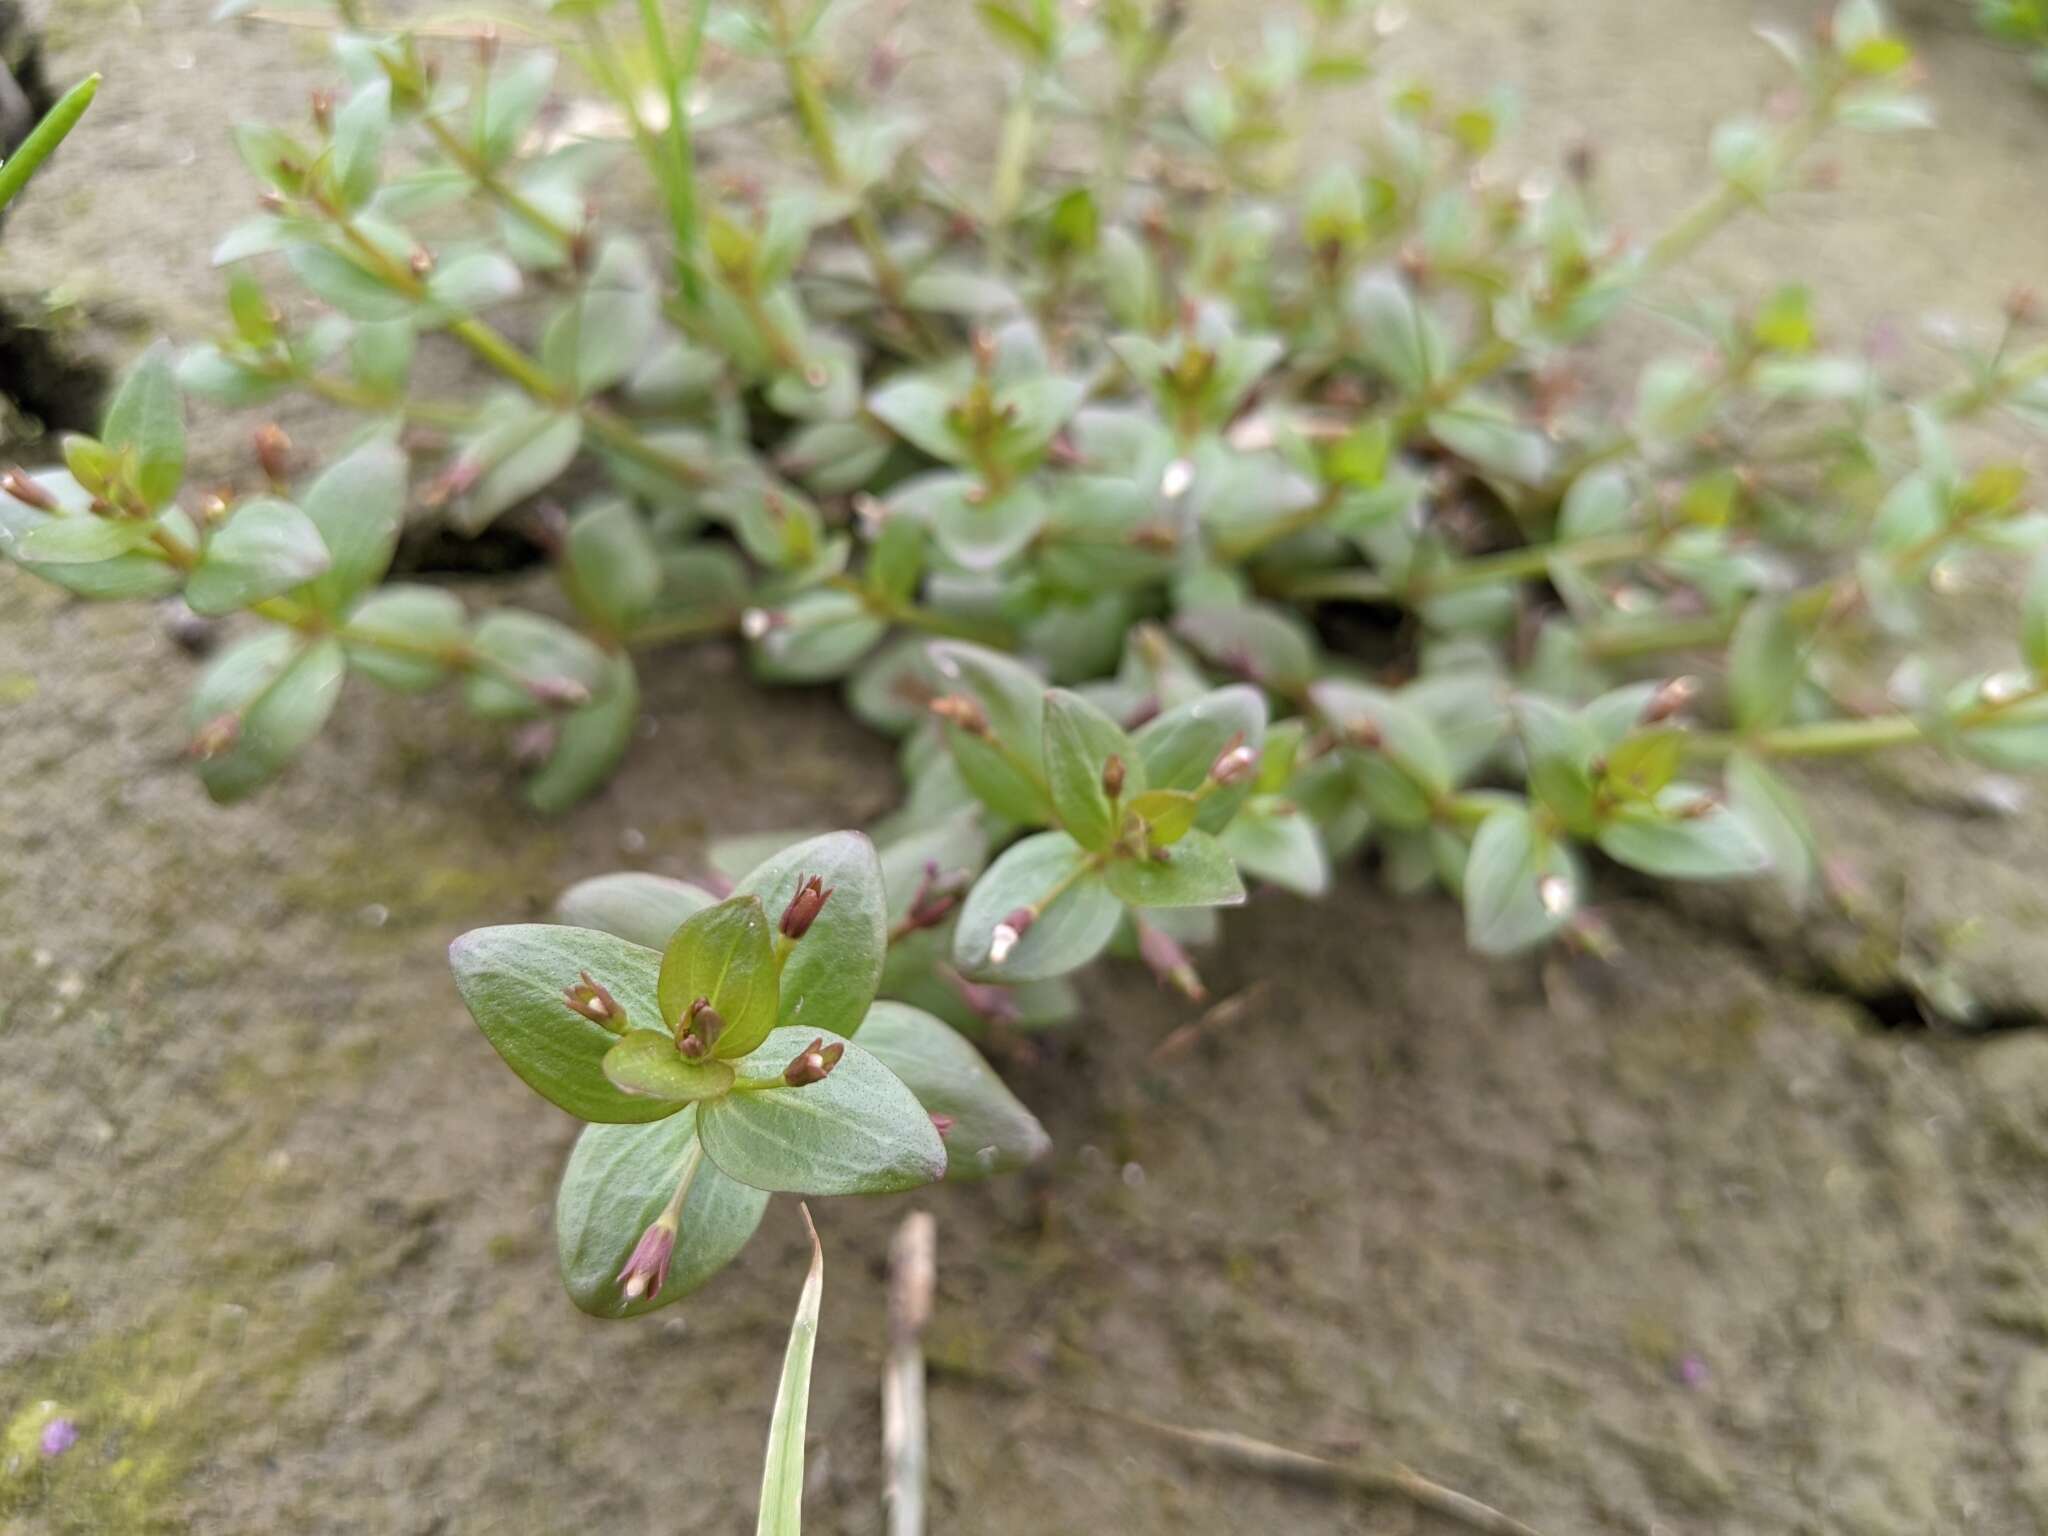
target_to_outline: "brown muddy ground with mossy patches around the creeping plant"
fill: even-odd
[[[319,68],[317,39],[207,8],[43,8],[59,74],[109,90],[6,274],[109,352],[209,324],[205,254],[244,199],[227,102],[293,113]],[[1520,86],[1532,154],[1602,143],[1649,227],[1755,96],[1749,25],[1806,6],[1419,10],[1399,66]],[[1837,326],[1907,330],[2044,276],[2048,100],[1958,12],[1915,12],[1946,133],[1851,145],[1708,276],[1821,281]],[[1231,47],[1253,14],[1202,20]],[[973,143],[948,102],[989,59],[940,0],[911,27],[909,88]],[[203,432],[209,473],[240,432]],[[0,1532],[748,1530],[795,1206],[696,1303],[575,1313],[549,1235],[573,1128],[440,956],[582,874],[688,872],[713,831],[868,819],[885,752],[711,649],[561,821],[453,717],[369,694],[217,811],[176,758],[188,672],[150,612],[0,571]],[[819,1208],[813,1530],[879,1530],[881,1255],[926,1204],[958,1368],[934,1384],[940,1532],[1448,1530],[1083,1401],[1376,1448],[1552,1534],[2048,1532],[2048,813],[1919,760],[1829,782],[1866,924],[1612,883],[1614,967],[1483,965],[1446,905],[1352,874],[1227,924],[1210,979],[1253,1004],[1165,1065],[1186,1010],[1092,979],[1085,1028],[1006,1063],[1057,1139],[1042,1180]],[[1929,979],[2019,1028],[1917,1028]],[[963,1380],[987,1372],[1020,1391]],[[55,1458],[51,1415],[78,1427]]]

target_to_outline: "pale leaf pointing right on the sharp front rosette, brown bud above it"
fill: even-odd
[[[817,1038],[846,1047],[823,1081],[735,1092],[698,1108],[711,1161],[776,1194],[895,1194],[944,1178],[946,1147],[932,1116],[858,1044],[782,1028],[735,1065],[743,1079],[780,1077]]]

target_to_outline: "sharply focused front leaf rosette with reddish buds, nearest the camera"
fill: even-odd
[[[872,844],[834,834],[727,901],[608,877],[563,915],[614,932],[522,924],[455,942],[457,987],[498,1053],[592,1122],[557,1208],[580,1307],[618,1317],[688,1294],[745,1245],[770,1192],[883,1194],[1044,1151],[967,1040],[874,1004],[885,913]]]

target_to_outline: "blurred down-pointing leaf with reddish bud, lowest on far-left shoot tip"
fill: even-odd
[[[229,805],[276,778],[319,735],[340,698],[348,659],[332,635],[272,629],[223,651],[193,690],[199,780]],[[213,745],[215,733],[225,743]]]

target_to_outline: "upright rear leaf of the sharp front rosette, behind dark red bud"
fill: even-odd
[[[874,844],[829,831],[793,844],[733,887],[780,922],[797,883],[819,877],[831,899],[782,963],[782,1024],[852,1034],[866,1018],[889,952],[889,897]]]

